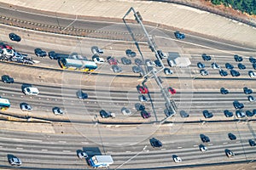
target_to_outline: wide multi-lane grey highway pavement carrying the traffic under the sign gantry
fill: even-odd
[[[6,15],[8,11],[3,9],[1,14]],[[38,15],[20,14],[17,11],[9,14],[32,21],[40,17],[44,24],[56,23],[56,19],[47,16],[43,18]],[[58,22],[67,26],[70,20],[58,17]],[[86,27],[93,30],[106,26],[109,29],[110,26],[109,23],[83,20],[75,22],[74,26],[82,26],[81,23],[86,23]],[[110,27],[117,30],[124,29],[123,24],[114,24]],[[148,27],[148,29],[152,28]],[[3,121],[0,129],[0,167],[2,169],[11,168],[7,154],[20,157],[23,162],[21,169],[89,169],[85,160],[79,160],[77,150],[85,150],[89,156],[112,155],[114,163],[110,169],[183,169],[218,167],[226,163],[233,164],[236,169],[255,167],[253,160],[256,156],[256,148],[248,144],[248,139],[256,138],[253,130],[256,129],[255,116],[239,121],[236,116],[225,117],[223,112],[227,109],[235,114],[236,110],[232,105],[234,99],[245,105],[245,111],[255,109],[255,102],[249,102],[242,90],[244,87],[252,88],[255,94],[255,80],[247,75],[247,71],[253,70],[248,57],[255,54],[255,49],[238,47],[236,43],[215,42],[193,35],[186,37],[184,42],[172,41],[173,31],[164,31],[167,36],[171,37],[171,39],[168,37],[166,42],[171,42],[175,45],[174,48],[178,47],[184,55],[189,55],[192,62],[189,72],[185,72],[182,76],[180,75],[182,70],[179,68],[172,68],[174,71],[172,76],[161,75],[166,87],[172,86],[177,89],[177,94],[172,95],[172,99],[177,102],[178,111],[188,111],[189,117],[182,118],[177,113],[168,120],[170,122],[158,124],[155,123],[156,120],[166,117],[163,112],[165,102],[154,81],[148,82],[147,85],[156,114],[153,114],[150,102],[145,103],[146,110],[152,115],[149,119],[143,120],[140,113],[135,110],[134,105],[139,102],[136,86],[142,80],[137,74],[132,73],[131,66],[134,64],[119,64],[124,70],[120,75],[114,74],[107,63],[96,70],[98,74],[82,74],[73,71],[40,69],[39,67],[59,69],[59,65],[56,60],[48,57],[40,59],[33,54],[34,48],[41,47],[47,51],[55,50],[67,54],[76,51],[90,56],[91,44],[97,44],[106,52],[103,58],[113,55],[120,59],[125,55],[125,49],[136,50],[132,42],[112,42],[86,37],[79,39],[78,37],[62,37],[49,33],[19,30],[20,36],[24,39],[16,43],[10,42],[8,38],[9,30],[15,30],[15,28],[1,26],[0,30],[3,32],[1,35],[3,42],[8,42],[18,51],[29,54],[39,61],[35,67],[0,63],[3,74],[9,74],[15,78],[13,84],[0,83],[0,96],[11,102],[11,108],[2,112],[1,116],[24,118],[31,116],[50,122]],[[155,41],[159,42],[157,44],[163,50],[176,51],[174,48],[168,48],[170,44],[166,45],[165,41],[161,41],[162,33],[157,35],[159,39],[156,38]],[[205,48],[202,48],[202,45]],[[154,59],[154,54],[150,52],[145,42],[140,45],[140,48],[147,59]],[[201,59],[203,53],[210,54],[212,60],[203,61]],[[229,71],[228,77],[220,77],[218,70],[213,70],[210,65],[216,61],[221,68],[224,68],[224,64],[229,62],[238,70],[233,54],[243,55],[242,63],[247,66],[247,69],[240,71],[241,77],[231,77]],[[201,76],[200,69],[196,66],[198,62],[206,64],[208,76]],[[166,61],[164,63],[167,66]],[[37,87],[40,94],[38,96],[22,94],[21,86],[24,83]],[[230,94],[220,94],[219,89],[222,87],[228,88]],[[80,88],[89,94],[89,99],[81,100],[76,97],[75,93]],[[20,111],[21,102],[32,105],[33,111]],[[66,114],[55,116],[51,111],[54,106],[63,108]],[[131,116],[122,115],[123,106],[131,109]],[[101,109],[113,111],[116,118],[100,118]],[[211,119],[204,118],[202,115],[204,110],[212,111],[214,116]],[[195,122],[191,123],[193,121]],[[111,124],[111,122],[116,124]],[[125,123],[121,125],[119,122]],[[132,124],[132,122],[137,122],[137,124]],[[228,139],[228,133],[236,134],[237,139],[231,141]],[[199,150],[199,144],[202,144],[200,134],[206,134],[211,139],[210,143],[205,144],[208,148],[205,153]],[[152,148],[149,143],[152,137],[160,139],[163,146]],[[228,158],[225,156],[225,149],[232,150],[236,156]],[[183,161],[180,163],[172,161],[173,154],[180,156]]]

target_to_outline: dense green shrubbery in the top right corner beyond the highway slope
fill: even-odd
[[[211,2],[214,5],[223,4],[225,7],[240,10],[242,13],[256,14],[256,0],[211,0]]]

